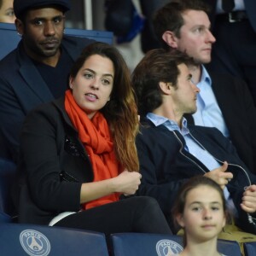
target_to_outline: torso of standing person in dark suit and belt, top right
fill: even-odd
[[[256,104],[256,1],[233,1],[233,6],[225,6],[229,1],[206,0],[212,8],[209,17],[217,40],[207,69],[245,80]]]

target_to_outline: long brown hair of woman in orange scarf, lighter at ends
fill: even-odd
[[[114,78],[110,101],[101,112],[108,121],[117,158],[129,171],[139,170],[135,137],[138,132],[137,105],[131,87],[131,73],[119,50],[110,44],[96,42],[84,48],[73,64],[70,76],[75,78],[91,55],[101,55],[113,62]]]

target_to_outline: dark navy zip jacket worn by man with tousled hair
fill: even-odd
[[[141,119],[141,132],[137,135],[137,152],[142,173],[142,183],[137,195],[154,197],[172,226],[172,206],[181,184],[196,175],[210,172],[200,160],[184,149],[185,140],[179,131],[169,131],[165,125],[155,126],[148,119]],[[189,133],[207,152],[222,165],[226,160],[233,178],[227,184],[237,209],[236,224],[242,230],[256,234],[249,224],[247,213],[240,207],[244,189],[256,184],[256,176],[236,154],[236,148],[216,128],[188,125]],[[172,227],[173,229],[173,227]]]

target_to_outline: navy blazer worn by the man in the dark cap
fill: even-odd
[[[92,42],[86,38],[64,37],[61,47],[75,61],[82,49]],[[15,162],[20,128],[26,113],[40,103],[54,99],[21,44],[22,40],[15,50],[0,61],[0,156]]]

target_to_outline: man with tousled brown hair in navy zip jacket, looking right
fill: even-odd
[[[256,234],[250,223],[256,212],[256,176],[218,129],[188,125],[183,117],[195,113],[200,92],[191,82],[187,58],[154,49],[132,74],[142,122],[137,151],[143,179],[137,195],[153,196],[172,226],[177,189],[189,177],[204,175],[224,189],[236,225]]]

